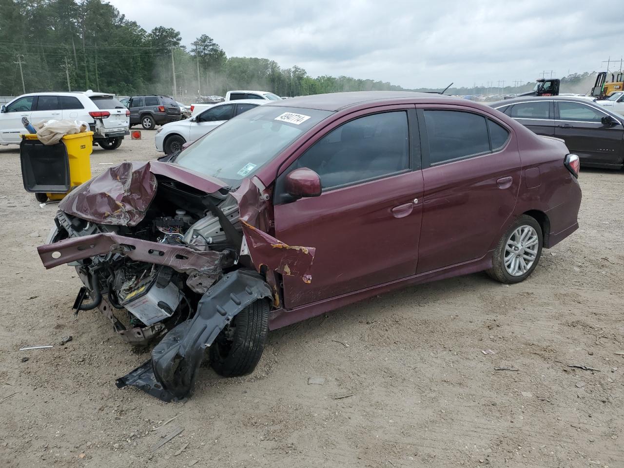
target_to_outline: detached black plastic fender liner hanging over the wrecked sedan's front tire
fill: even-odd
[[[205,349],[220,331],[246,306],[272,297],[270,286],[256,271],[224,275],[202,296],[193,318],[167,333],[152,349],[152,359],[117,379],[117,387],[132,385],[163,401],[189,396]]]

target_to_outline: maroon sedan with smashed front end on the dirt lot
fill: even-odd
[[[578,157],[497,110],[351,92],[257,107],[168,162],[122,163],[59,205],[39,255],[75,266],[150,361],[118,379],[165,401],[204,358],[255,368],[269,329],[406,285],[525,280],[578,228]]]

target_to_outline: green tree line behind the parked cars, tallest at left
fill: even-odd
[[[294,96],[402,88],[346,76],[313,78],[301,67],[282,68],[270,59],[227,57],[207,34],[187,49],[179,31],[145,31],[104,0],[0,0],[0,95],[24,89],[175,92],[178,100],[192,100],[229,89]]]

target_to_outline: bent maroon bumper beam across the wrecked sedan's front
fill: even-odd
[[[220,251],[193,250],[187,246],[135,239],[110,232],[41,245],[37,247],[37,252],[43,265],[48,269],[108,253],[119,253],[132,260],[170,266],[180,273],[199,272],[210,276],[220,276],[222,269],[232,263],[227,255]]]

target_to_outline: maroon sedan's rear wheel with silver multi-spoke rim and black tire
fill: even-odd
[[[526,280],[540,260],[543,244],[540,224],[522,215],[500,238],[487,274],[507,285]]]

